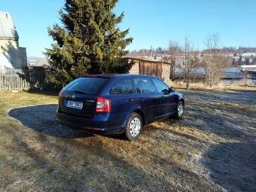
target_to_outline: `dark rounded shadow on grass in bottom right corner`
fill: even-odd
[[[256,143],[221,143],[203,158],[213,181],[228,191],[256,191]]]

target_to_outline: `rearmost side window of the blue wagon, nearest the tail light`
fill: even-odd
[[[111,94],[133,93],[133,85],[130,79],[121,79],[117,81],[110,90]]]

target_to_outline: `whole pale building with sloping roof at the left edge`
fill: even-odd
[[[27,66],[26,48],[19,46],[19,35],[11,14],[0,11],[0,69]]]

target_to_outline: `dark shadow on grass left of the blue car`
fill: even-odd
[[[9,111],[9,115],[19,120],[29,129],[62,139],[84,138],[93,136],[83,130],[71,129],[56,120],[57,105],[35,105],[24,108],[14,108]]]

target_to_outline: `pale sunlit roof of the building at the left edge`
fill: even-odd
[[[19,38],[11,14],[0,11],[0,38]]]

